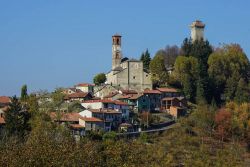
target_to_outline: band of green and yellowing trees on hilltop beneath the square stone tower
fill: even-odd
[[[239,44],[215,48],[207,40],[186,38],[181,48],[167,46],[152,60],[143,53],[141,60],[154,87],[178,88],[192,103],[250,101],[250,62]]]

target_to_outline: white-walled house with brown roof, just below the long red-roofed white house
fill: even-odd
[[[113,109],[86,109],[79,114],[84,118],[102,120],[105,131],[117,130],[122,123],[122,113]]]

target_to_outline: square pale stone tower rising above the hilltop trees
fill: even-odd
[[[193,42],[196,40],[205,40],[204,37],[205,24],[203,24],[202,21],[200,20],[194,21],[190,25],[190,28],[191,28],[191,39]]]

